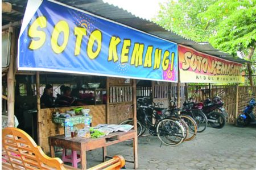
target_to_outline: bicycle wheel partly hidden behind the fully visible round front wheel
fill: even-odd
[[[196,121],[189,115],[180,115],[180,118],[185,123],[187,123],[187,126],[188,126],[188,136],[184,140],[189,141],[189,140],[194,139],[196,137],[196,133],[197,133]]]

